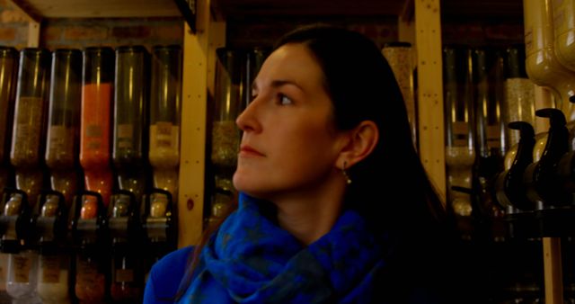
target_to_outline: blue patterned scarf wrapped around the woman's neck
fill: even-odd
[[[368,303],[385,262],[382,239],[357,212],[344,211],[309,246],[261,214],[241,193],[240,205],[210,238],[181,303]]]

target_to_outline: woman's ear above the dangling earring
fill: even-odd
[[[349,168],[357,164],[376,148],[379,130],[374,121],[361,121],[357,127],[347,132],[347,145],[340,152],[336,166]]]

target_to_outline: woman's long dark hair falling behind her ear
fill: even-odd
[[[393,250],[385,258],[394,265],[390,268],[394,286],[401,290],[406,284],[427,283],[421,273],[429,273],[428,264],[442,258],[442,252],[434,255],[429,248],[442,246],[438,240],[451,226],[413,147],[403,95],[391,67],[374,41],[339,27],[300,27],[282,37],[274,49],[290,43],[305,45],[322,67],[338,130],[350,130],[361,121],[376,123],[375,150],[349,168],[353,182],[346,190],[344,208],[357,210],[376,234],[387,236]],[[194,265],[204,245],[197,248]],[[382,274],[378,281],[391,283],[388,278]]]

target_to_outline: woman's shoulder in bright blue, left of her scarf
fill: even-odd
[[[173,302],[192,251],[193,246],[182,247],[164,255],[152,266],[146,282],[145,303]]]

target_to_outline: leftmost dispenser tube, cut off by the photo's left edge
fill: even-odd
[[[4,113],[5,118],[0,122],[0,193],[5,187],[13,187],[9,155],[17,72],[18,51],[0,47],[0,113]],[[3,277],[0,275],[0,291],[3,290],[3,282]]]

